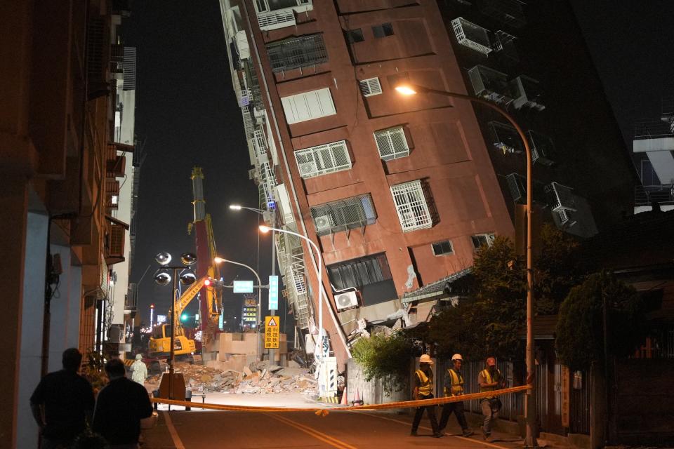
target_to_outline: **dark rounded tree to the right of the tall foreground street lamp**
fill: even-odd
[[[642,300],[632,286],[609,272],[588,276],[571,289],[560,307],[557,354],[572,370],[604,358],[604,304],[608,356],[626,356],[642,337]]]

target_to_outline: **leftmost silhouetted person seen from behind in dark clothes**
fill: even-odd
[[[42,449],[67,448],[91,420],[94,399],[88,380],[77,374],[82,354],[63,351],[63,369],[42,377],[30,396],[30,408],[42,434]]]

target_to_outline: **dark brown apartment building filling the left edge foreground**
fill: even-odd
[[[29,396],[62,351],[102,349],[110,267],[124,260],[110,184],[124,170],[113,98],[127,3],[19,2],[0,18],[11,30],[0,43],[0,435],[10,448],[37,447]]]

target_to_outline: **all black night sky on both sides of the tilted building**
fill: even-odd
[[[553,0],[546,0],[553,1]],[[674,95],[674,2],[571,0],[609,102],[631,148],[633,122],[658,116],[662,96]],[[152,281],[154,255],[194,251],[192,166],[204,168],[206,210],[218,253],[258,267],[258,215],[227,209],[258,206],[241,114],[231,86],[217,0],[143,0],[123,22],[124,44],[138,47],[136,134],[146,153],[141,170],[138,234],[131,280],[140,283],[138,307],[168,309],[171,293]],[[545,39],[545,36],[541,36]],[[259,270],[270,274],[270,237],[260,241]],[[227,265],[225,281],[251,279]],[[239,316],[240,295],[225,296]],[[263,304],[264,305],[264,304]],[[281,306],[283,307],[283,306]],[[195,312],[196,304],[190,311]],[[282,311],[283,312],[283,311]]]

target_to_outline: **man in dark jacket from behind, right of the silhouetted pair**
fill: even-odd
[[[111,449],[136,449],[140,420],[152,415],[150,396],[143,385],[125,377],[124,362],[113,358],[105,364],[110,382],[100,390],[93,412],[93,431],[103,435]]]

